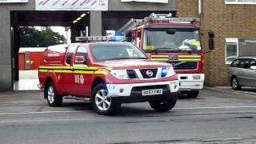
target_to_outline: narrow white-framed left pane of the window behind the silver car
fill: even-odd
[[[235,58],[238,58],[238,38],[226,38],[225,63],[230,64]]]

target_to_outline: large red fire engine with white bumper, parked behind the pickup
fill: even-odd
[[[118,30],[154,61],[173,64],[178,74],[182,94],[198,97],[202,89],[204,53],[199,30],[199,18],[174,18],[172,14],[151,14],[144,19],[130,19]],[[214,33],[208,30],[209,51],[214,50]],[[206,54],[205,53],[205,54]]]

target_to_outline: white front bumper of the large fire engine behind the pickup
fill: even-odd
[[[179,90],[200,90],[205,81],[205,74],[178,74],[178,80]]]

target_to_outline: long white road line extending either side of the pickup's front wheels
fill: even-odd
[[[232,108],[256,108],[256,106],[216,106],[216,107],[181,107],[174,108],[174,110],[201,110],[201,109],[232,109]],[[79,113],[86,110],[70,110],[70,111],[32,111],[32,112],[16,112],[16,113],[0,113],[0,115],[11,114],[52,114],[52,113]]]

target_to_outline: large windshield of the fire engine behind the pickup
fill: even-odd
[[[143,41],[144,50],[201,50],[198,30],[195,29],[146,29]]]

